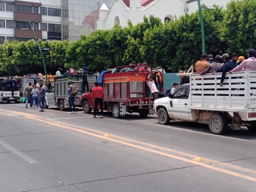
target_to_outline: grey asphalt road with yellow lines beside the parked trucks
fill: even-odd
[[[256,133],[0,103],[0,192],[256,191]],[[194,161],[201,157],[203,161]]]

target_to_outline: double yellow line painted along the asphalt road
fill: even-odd
[[[192,155],[192,154],[188,154],[188,153],[184,153],[184,152],[181,152],[181,151],[177,151],[177,150],[173,150],[173,149],[169,149],[169,148],[164,148],[164,147],[161,147],[161,146],[157,146],[157,145],[153,145],[153,144],[149,144],[149,143],[145,143],[145,142],[141,142],[141,141],[137,141],[137,140],[132,140],[132,139],[129,139],[129,138],[124,138],[124,137],[121,137],[121,136],[111,134],[111,137],[115,137],[115,138],[118,138],[118,139],[121,139],[121,140],[126,140],[126,141],[120,141],[120,140],[112,139],[112,138],[109,138],[109,137],[101,136],[101,135],[105,135],[107,133],[100,132],[98,130],[85,128],[85,127],[81,127],[81,126],[76,126],[76,125],[71,125],[71,124],[66,124],[66,123],[62,123],[60,125],[60,124],[56,124],[57,121],[53,121],[51,119],[43,118],[43,117],[40,117],[40,116],[31,115],[31,114],[22,113],[22,112],[17,112],[17,111],[10,111],[10,112],[16,113],[16,114],[19,114],[19,115],[24,115],[27,118],[38,120],[38,121],[41,121],[41,122],[44,122],[44,123],[52,124],[52,125],[55,125],[55,126],[67,128],[67,129],[78,131],[78,132],[82,132],[82,133],[85,133],[85,134],[88,134],[88,135],[91,135],[91,136],[99,137],[99,138],[102,138],[102,139],[105,139],[105,140],[110,140],[110,141],[117,142],[117,143],[121,143],[121,144],[130,146],[130,147],[139,148],[139,149],[146,150],[146,151],[149,151],[149,152],[153,152],[153,153],[156,153],[156,154],[160,154],[160,155],[163,155],[163,156],[168,156],[168,157],[171,157],[171,158],[174,158],[174,159],[185,161],[185,162],[188,162],[188,163],[191,163],[191,164],[200,165],[200,166],[203,166],[203,167],[215,170],[215,171],[227,173],[227,174],[230,174],[230,175],[233,175],[233,176],[237,176],[237,177],[240,177],[240,178],[244,178],[244,179],[256,182],[256,178],[253,178],[253,177],[250,177],[250,176],[246,176],[246,175],[243,175],[243,174],[240,174],[240,173],[237,173],[237,172],[232,172],[232,171],[228,171],[228,170],[221,169],[221,168],[218,168],[218,167],[214,167],[214,166],[209,165],[209,164],[204,164],[204,163],[200,163],[200,162],[196,162],[196,161],[191,161],[191,160],[183,158],[183,157],[171,155],[171,154],[156,151],[156,150],[153,150],[153,149],[141,147],[141,146],[138,146],[138,145],[135,145],[135,144],[132,144],[132,143],[127,143],[126,141],[130,141],[130,142],[133,142],[133,143],[139,143],[139,144],[142,144],[142,145],[145,145],[145,146],[148,146],[148,147],[158,148],[158,149],[162,149],[162,150],[165,150],[165,151],[177,153],[177,154],[192,157],[192,158],[198,157],[198,156],[195,156],[195,155]],[[55,123],[47,122],[49,120],[52,121],[52,122],[55,122]],[[68,126],[71,126],[71,127],[68,127]],[[84,129],[84,130],[87,130],[87,131],[90,131],[90,132],[83,131],[83,130],[76,129],[76,128],[72,128],[72,127]],[[99,133],[101,135],[97,135],[97,134],[92,133],[92,132],[96,132],[96,133]],[[252,173],[256,174],[256,171],[252,170],[252,169],[247,169],[247,168],[244,168],[244,167],[240,167],[240,166],[236,166],[236,165],[232,165],[232,164],[228,164],[228,163],[222,163],[220,161],[216,161],[216,160],[212,160],[212,159],[208,159],[208,158],[204,158],[204,160],[212,162],[212,163],[216,163],[216,164],[221,164],[221,165],[224,165],[224,166],[227,166],[227,167],[232,167],[232,168],[235,168],[235,169],[243,170],[245,172],[252,172]]]

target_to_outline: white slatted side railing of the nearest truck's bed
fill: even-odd
[[[191,109],[244,112],[256,108],[256,71],[227,73],[220,87],[222,73],[190,75]]]

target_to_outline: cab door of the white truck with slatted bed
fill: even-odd
[[[169,99],[168,114],[171,118],[190,119],[189,91],[189,87],[180,87],[174,93],[173,98]]]

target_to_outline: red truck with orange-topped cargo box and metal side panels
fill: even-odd
[[[127,67],[129,66],[121,68]],[[105,93],[104,110],[112,112],[114,118],[124,117],[126,112],[137,112],[141,117],[153,115],[154,99],[146,81],[148,73],[154,72],[154,75],[158,76],[157,88],[163,92],[162,73],[156,69],[151,72],[111,72],[111,70],[108,71],[102,77],[101,87],[103,87]],[[82,94],[81,105],[83,106],[84,113],[91,113],[94,108],[91,93]],[[99,105],[98,109],[100,109]]]

